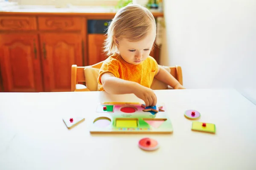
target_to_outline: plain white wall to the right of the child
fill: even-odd
[[[161,64],[181,65],[186,88],[256,88],[256,0],[164,3]]]

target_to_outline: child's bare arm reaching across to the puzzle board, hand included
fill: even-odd
[[[102,74],[101,82],[104,90],[110,94],[135,94],[145,102],[146,106],[157,104],[157,96],[154,91],[137,82],[117,78],[111,73]]]

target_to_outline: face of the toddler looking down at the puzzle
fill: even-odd
[[[156,31],[151,29],[143,40],[137,42],[131,42],[123,38],[118,45],[122,59],[130,64],[140,64],[149,56],[155,37]]]

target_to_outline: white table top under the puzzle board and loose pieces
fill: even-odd
[[[0,93],[0,170],[255,170],[256,106],[236,90],[156,91],[172,134],[90,134],[97,102],[142,102],[104,92]],[[191,131],[195,109],[216,134]],[[62,116],[85,116],[68,130]],[[137,143],[151,137],[153,152]]]

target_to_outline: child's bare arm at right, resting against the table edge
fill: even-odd
[[[172,76],[172,74],[170,74],[168,71],[166,71],[162,67],[159,67],[159,71],[155,75],[155,78],[157,78],[161,82],[166,83],[167,85],[171,86],[174,89],[185,89],[182,85],[180,85],[180,82],[178,82],[177,79],[175,79]]]

